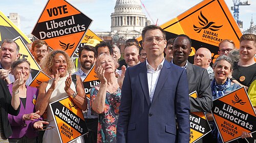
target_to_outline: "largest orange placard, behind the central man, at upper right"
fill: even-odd
[[[162,24],[166,39],[185,34],[192,41],[194,52],[188,61],[194,63],[195,51],[201,47],[211,51],[212,61],[218,58],[218,46],[223,39],[230,39],[239,48],[240,28],[224,0],[205,0],[176,18]],[[142,38],[138,38],[142,40]]]

